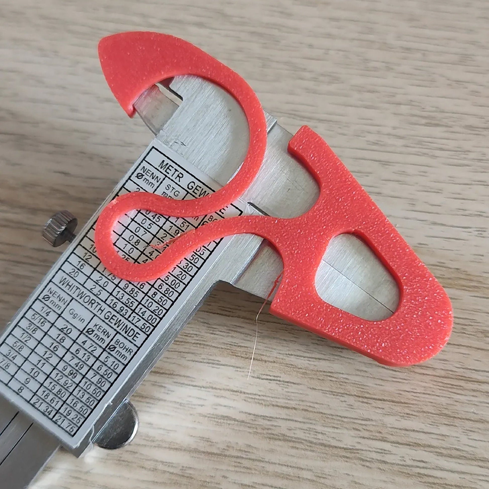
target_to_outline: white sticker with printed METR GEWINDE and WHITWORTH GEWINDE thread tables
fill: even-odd
[[[107,201],[134,191],[194,199],[218,188],[155,139]],[[116,225],[113,241],[124,259],[146,263],[161,253],[152,244],[243,211],[241,202],[185,219],[133,211]],[[70,446],[83,439],[125,372],[129,375],[164,331],[192,281],[209,269],[230,239],[198,248],[163,278],[131,283],[112,275],[97,258],[93,235],[99,212],[0,339],[0,393]]]

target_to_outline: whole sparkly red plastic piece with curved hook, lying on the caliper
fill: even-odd
[[[156,53],[152,52],[155,46]],[[257,234],[276,248],[284,262],[283,278],[270,307],[273,314],[386,365],[419,363],[443,348],[453,320],[445,291],[326,142],[307,126],[289,142],[290,154],[319,184],[319,198],[306,214],[293,219],[241,216],[210,222],[179,235],[152,262],[123,260],[112,243],[112,229],[123,214],[142,209],[176,217],[203,215],[241,195],[263,159],[265,119],[255,94],[239,75],[185,41],[156,33],[124,33],[103,39],[99,50],[109,85],[128,113],[132,113],[135,98],[153,83],[190,73],[234,95],[250,127],[250,146],[242,168],[215,194],[185,201],[136,192],[107,205],[97,221],[95,246],[114,275],[136,282],[155,280],[201,245],[233,234]],[[400,302],[391,317],[361,319],[325,303],[317,294],[317,268],[331,239],[341,233],[362,238],[395,277]]]

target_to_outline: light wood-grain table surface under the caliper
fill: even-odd
[[[124,30],[197,44],[320,133],[455,311],[405,369],[264,312],[247,379],[261,300],[219,286],[133,396],[133,444],[61,450],[35,489],[489,487],[488,22],[487,0],[1,1],[1,324],[61,252],[46,218],[85,222],[150,141],[97,59]]]

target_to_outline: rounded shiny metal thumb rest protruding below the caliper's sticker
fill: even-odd
[[[138,425],[136,408],[126,400],[105,423],[95,438],[95,444],[108,450],[122,448],[133,441]]]

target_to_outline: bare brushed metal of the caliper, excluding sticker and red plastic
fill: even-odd
[[[227,92],[205,80],[176,77],[171,88],[183,99],[180,105],[152,88],[138,99],[136,110],[152,131],[161,128],[158,139],[224,185],[239,169],[248,146],[243,112]],[[251,204],[250,213],[298,216],[317,199],[317,184],[287,152],[291,134],[269,114],[267,131],[263,165],[243,198]],[[281,270],[280,257],[264,240],[252,235],[234,236],[74,453],[80,455],[91,447],[117,406],[133,393],[217,281],[267,297]],[[399,300],[389,272],[365,244],[350,235],[332,240],[317,270],[316,288],[325,301],[366,319],[388,317]],[[0,480],[7,481],[11,489],[23,488],[59,444],[8,402],[0,403]]]

